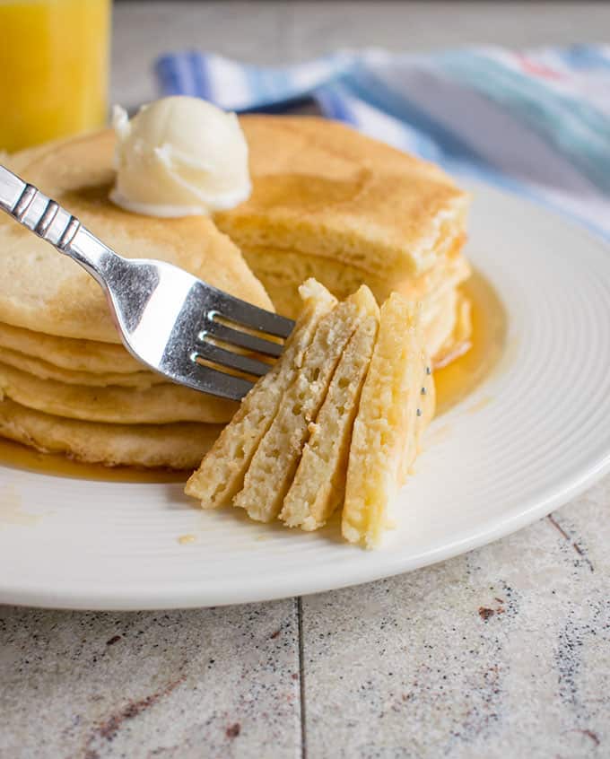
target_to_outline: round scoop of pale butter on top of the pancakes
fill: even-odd
[[[117,133],[110,199],[136,214],[213,214],[248,198],[248,144],[234,113],[186,96],[143,106],[129,120],[113,109]]]

